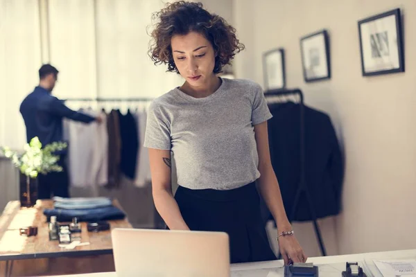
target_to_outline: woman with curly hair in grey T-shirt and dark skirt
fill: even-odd
[[[250,80],[217,76],[244,48],[236,30],[201,3],[168,4],[154,19],[150,57],[184,78],[181,87],[153,100],[144,141],[155,206],[168,229],[228,233],[232,263],[275,260],[258,187],[277,222],[285,263],[305,262],[270,162],[272,115],[263,91]],[[179,185],[175,197],[171,159]]]

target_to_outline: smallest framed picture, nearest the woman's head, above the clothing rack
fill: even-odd
[[[282,48],[272,49],[263,54],[263,71],[266,91],[286,87],[284,50]]]

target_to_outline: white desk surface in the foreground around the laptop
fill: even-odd
[[[363,253],[344,256],[327,256],[309,258],[308,262],[313,262],[314,265],[329,265],[330,270],[320,267],[320,277],[340,276],[340,271],[345,270],[345,262],[363,262],[364,260],[372,259],[416,259],[416,249],[402,250],[402,251],[388,251],[376,253]],[[277,274],[269,274],[268,269],[278,269],[283,267],[282,260],[275,260],[271,262],[249,262],[245,264],[236,264],[231,266],[231,276],[250,276],[250,277],[268,277],[268,276],[282,276],[282,271],[277,271]],[[324,270],[321,270],[324,269]],[[376,272],[375,266],[369,265],[367,270]],[[335,274],[336,273],[336,274]],[[379,274],[372,274],[370,276],[381,276]],[[78,275],[62,275],[55,277],[116,277],[115,272],[105,272],[96,274],[78,274]]]

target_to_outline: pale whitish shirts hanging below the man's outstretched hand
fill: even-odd
[[[98,113],[84,111],[88,114]],[[108,181],[108,133],[107,118],[102,123],[65,122],[65,136],[68,137],[69,179],[71,186],[93,188]],[[97,193],[97,192],[96,192]],[[94,193],[94,194],[96,194]]]

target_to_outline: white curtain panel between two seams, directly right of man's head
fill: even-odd
[[[48,1],[49,57],[60,71],[53,94],[96,98],[93,0]]]

